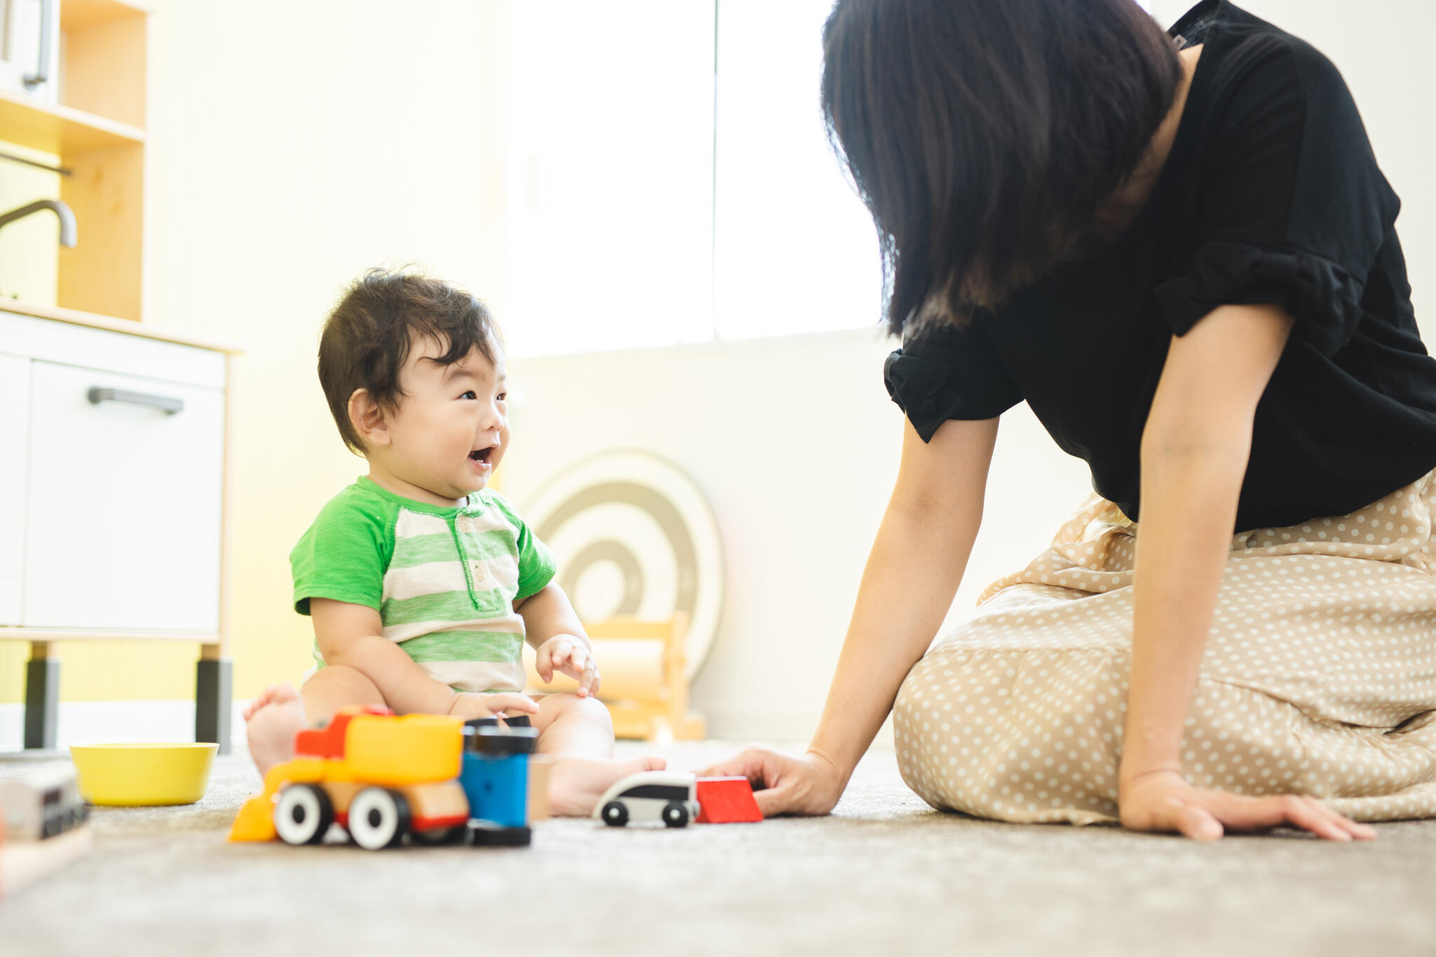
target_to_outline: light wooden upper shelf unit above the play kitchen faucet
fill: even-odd
[[[0,90],[0,141],[53,154],[79,242],[59,250],[56,303],[138,320],[144,275],[148,10],[60,0],[59,105]],[[36,197],[39,198],[39,197]]]

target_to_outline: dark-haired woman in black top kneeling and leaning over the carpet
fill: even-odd
[[[1225,0],[1170,36],[1132,0],[839,0],[823,106],[902,463],[807,753],[714,773],[827,814],[893,710],[909,786],[988,818],[1436,815],[1436,362],[1335,67]],[[1100,498],[928,650],[1022,400]]]

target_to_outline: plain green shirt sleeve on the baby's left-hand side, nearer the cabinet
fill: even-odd
[[[393,521],[385,502],[348,488],[320,509],[289,554],[294,611],[310,598],[333,598],[379,610],[383,572],[393,557]]]

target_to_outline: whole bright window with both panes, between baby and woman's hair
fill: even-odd
[[[830,6],[514,4],[504,329],[516,353],[877,320],[872,221],[819,110]]]

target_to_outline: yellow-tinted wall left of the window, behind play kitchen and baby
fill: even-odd
[[[233,643],[234,690],[247,697],[307,667],[312,638],[290,607],[287,554],[363,468],[314,377],[329,306],[385,261],[419,261],[481,293],[501,283],[510,7],[149,6],[144,316],[247,350]],[[17,702],[24,646],[0,644],[0,702]],[[194,693],[197,647],[72,644],[60,654],[62,700]],[[13,737],[0,750],[19,746],[17,729]]]

